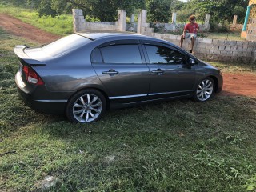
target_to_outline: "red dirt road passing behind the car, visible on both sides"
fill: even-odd
[[[53,42],[54,40],[61,38],[58,35],[39,30],[38,28],[7,14],[0,14],[0,26],[10,34],[42,44]],[[256,97],[256,74],[223,73],[223,77],[224,86],[221,95]]]

